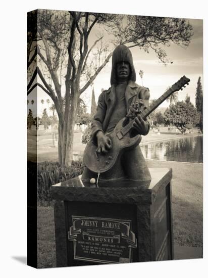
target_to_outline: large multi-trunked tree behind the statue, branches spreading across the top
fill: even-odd
[[[89,45],[89,36],[95,27],[103,34]],[[62,165],[71,165],[73,131],[80,95],[109,62],[115,45],[127,44],[129,48],[138,47],[147,53],[152,50],[160,61],[167,64],[169,59],[160,45],[175,43],[187,47],[192,36],[192,26],[187,20],[179,18],[46,10],[38,10],[37,31],[37,53],[53,81],[49,85],[38,67],[37,73],[44,86],[40,83],[37,85],[53,100],[58,113],[59,162]],[[109,43],[103,43],[106,33],[114,36]],[[64,66],[65,105],[62,79],[59,79]]]

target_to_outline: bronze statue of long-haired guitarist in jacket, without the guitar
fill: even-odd
[[[142,119],[138,114],[135,117],[135,105],[141,104],[141,107],[149,105],[149,89],[139,86],[135,83],[136,73],[133,65],[132,54],[125,45],[119,45],[113,52],[111,87],[102,91],[98,99],[97,112],[91,124],[92,142],[96,145],[96,154],[91,156],[88,163],[96,165],[99,157],[107,156],[108,160],[112,159],[111,136],[108,133],[115,129],[118,122],[126,118],[126,121],[132,121],[132,137],[141,134],[146,135],[150,129],[150,121]],[[90,149],[88,150],[90,152]],[[94,159],[96,155],[97,159]],[[88,155],[89,157],[89,155]],[[85,160],[84,160],[85,162]],[[90,167],[91,168],[91,167]],[[93,167],[92,167],[93,169]],[[97,178],[99,171],[90,171],[86,166],[84,168],[82,179]],[[120,180],[130,179],[138,182],[150,181],[150,173],[145,159],[141,153],[140,147],[124,150],[116,160],[113,167],[108,171],[100,171],[101,180]]]

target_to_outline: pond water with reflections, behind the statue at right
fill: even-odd
[[[141,151],[147,159],[202,163],[203,136],[149,143],[141,146]]]

